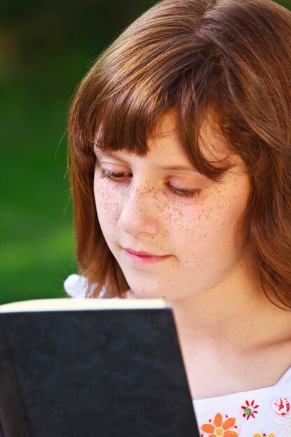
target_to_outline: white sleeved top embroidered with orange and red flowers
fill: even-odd
[[[64,283],[71,297],[84,298],[86,286],[76,274]],[[291,367],[271,387],[193,401],[201,437],[291,437],[290,404]]]

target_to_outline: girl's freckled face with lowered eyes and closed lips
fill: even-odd
[[[234,230],[250,191],[241,158],[233,156],[236,166],[212,182],[186,158],[176,126],[170,112],[149,138],[145,158],[96,148],[100,227],[128,285],[142,298],[190,297],[222,284],[238,262]],[[217,157],[226,153],[207,123],[202,138]]]

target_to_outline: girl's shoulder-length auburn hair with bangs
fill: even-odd
[[[107,297],[124,297],[129,288],[98,223],[94,143],[145,156],[147,138],[174,109],[189,161],[219,181],[230,163],[217,165],[200,151],[211,111],[251,182],[237,227],[253,267],[267,297],[291,308],[290,30],[290,11],[270,0],[163,0],[100,54],[68,123],[77,262],[88,297],[103,286]]]

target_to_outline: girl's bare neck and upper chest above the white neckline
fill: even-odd
[[[271,304],[239,265],[215,288],[167,303],[193,399],[267,387],[291,365],[290,312]]]

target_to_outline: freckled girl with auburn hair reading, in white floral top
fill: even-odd
[[[204,437],[291,436],[290,54],[272,1],[163,0],[70,110],[66,288],[172,306]]]

